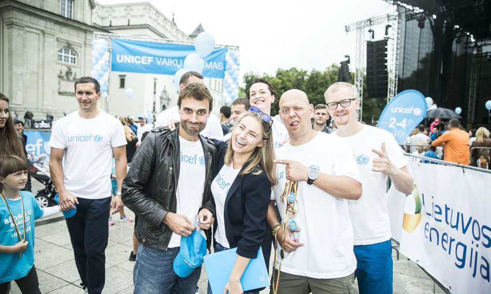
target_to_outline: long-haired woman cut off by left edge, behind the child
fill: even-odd
[[[15,130],[14,119],[10,115],[9,98],[0,93],[0,156],[16,155],[25,158],[24,138]],[[31,191],[31,176],[27,174],[27,183],[22,191]]]

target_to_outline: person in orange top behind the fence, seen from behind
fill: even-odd
[[[431,142],[431,145],[444,144],[443,159],[445,161],[468,165],[470,163],[469,134],[459,129],[459,126],[458,119],[451,119],[448,122],[449,131]]]

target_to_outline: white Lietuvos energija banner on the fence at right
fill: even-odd
[[[491,293],[491,174],[410,162],[413,194],[387,195],[400,252],[452,293]]]

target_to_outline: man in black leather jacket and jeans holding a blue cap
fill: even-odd
[[[179,94],[181,123],[151,131],[139,146],[122,184],[122,200],[139,216],[139,241],[133,281],[135,293],[194,293],[201,267],[181,278],[173,270],[181,236],[197,227],[209,231],[215,206],[210,190],[215,145],[198,133],[213,105],[208,88],[199,83]],[[207,245],[211,236],[207,234]]]

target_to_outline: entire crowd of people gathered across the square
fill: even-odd
[[[75,209],[65,220],[81,286],[101,293],[111,216],[119,212],[121,222],[133,222],[124,206],[135,212],[129,257],[134,293],[196,291],[201,265],[189,264],[184,275],[174,268],[193,232],[206,238],[209,252],[235,248],[224,293],[261,290],[244,291],[240,283],[259,250],[266,266],[274,260],[274,294],[392,292],[387,178],[410,194],[413,177],[394,137],[357,121],[361,101],[353,85],[329,86],[325,104],[315,107],[304,92],[286,91],[278,120],[271,114],[274,87],[256,79],[247,97],[222,107],[218,119],[203,77],[189,71],[177,105],[159,114],[154,126],[144,114],[135,124],[101,112],[93,78],[79,78],[74,89],[79,109],[58,121],[50,139],[56,209],[39,208],[30,192],[21,191],[28,181],[23,125],[0,94],[0,260],[6,265],[0,292],[8,292],[13,280],[23,293],[39,292],[34,222],[26,213],[38,218]],[[470,154],[471,133],[458,120],[447,125],[432,124],[434,131],[418,126],[407,152],[437,158],[444,144],[445,160],[469,164],[478,156],[476,164],[489,163],[488,152]],[[471,146],[491,143],[485,128],[472,134]],[[10,223],[17,234],[11,235]]]

